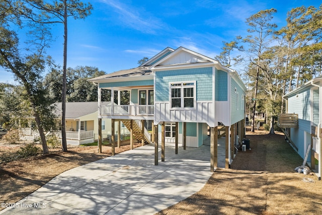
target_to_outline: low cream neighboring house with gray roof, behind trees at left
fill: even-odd
[[[108,104],[108,103],[107,103]],[[56,106],[54,114],[57,121],[61,117],[61,102],[54,104]],[[94,142],[98,139],[98,106],[97,102],[66,102],[65,111],[66,121],[66,141],[68,145],[83,145]],[[60,121],[59,121],[60,122]],[[38,131],[32,131],[31,128],[24,128],[24,138],[35,138]],[[128,133],[128,130],[122,126],[121,135]],[[61,131],[51,131],[61,138]],[[102,120],[102,137],[107,138],[111,135],[111,120]]]

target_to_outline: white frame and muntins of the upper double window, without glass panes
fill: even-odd
[[[187,85],[188,84],[188,85]],[[185,90],[187,88],[193,89],[193,96],[185,97]],[[186,82],[170,82],[169,83],[169,102],[170,102],[170,109],[180,109],[180,110],[193,110],[196,109],[196,81],[186,81]],[[172,89],[180,89],[180,97],[172,97]],[[180,98],[180,107],[173,107],[173,98]],[[185,98],[186,99],[193,99],[193,107],[185,107]]]

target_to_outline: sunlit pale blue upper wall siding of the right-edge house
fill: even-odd
[[[297,113],[299,119],[310,120],[310,90],[288,99],[288,113]]]

